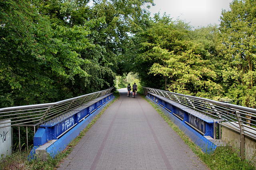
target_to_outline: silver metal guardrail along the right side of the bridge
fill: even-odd
[[[226,126],[222,122],[225,121],[236,126],[239,130],[233,130],[240,133],[240,156],[242,157],[244,157],[244,137],[256,140],[256,109],[154,88],[142,88],[145,95],[147,95],[148,92],[158,94],[216,119],[215,121],[218,123],[218,139],[220,139],[221,133],[220,125]],[[216,133],[214,134],[214,139],[216,139]]]

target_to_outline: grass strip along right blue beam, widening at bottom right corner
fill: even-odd
[[[147,99],[145,99],[147,100]],[[148,100],[147,100],[148,101]],[[208,166],[211,170],[255,170],[255,166],[249,164],[248,160],[242,160],[236,152],[229,147],[223,147],[212,154],[206,154],[194,144],[186,134],[181,131],[156,104],[148,101],[156,109],[168,125],[180,136],[180,138],[190,147],[190,149]]]

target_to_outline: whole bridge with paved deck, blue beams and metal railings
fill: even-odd
[[[214,152],[216,148],[226,146],[225,141],[234,141],[232,145],[242,148],[241,157],[254,158],[256,129],[253,118],[256,109],[143,89],[146,98],[157,104],[204,152]],[[54,104],[2,108],[1,129],[37,127],[34,130],[34,149],[29,158],[47,154],[54,157],[114,98],[111,90]],[[140,95],[128,98],[126,89],[119,92],[120,99],[106,109],[60,165],[60,170],[207,169],[146,100]],[[34,113],[32,118],[31,113]],[[16,120],[12,117],[3,119],[6,115],[14,115]],[[18,117],[22,119],[18,120]],[[29,122],[36,123],[29,125]],[[6,136],[10,134],[13,135],[6,133]]]

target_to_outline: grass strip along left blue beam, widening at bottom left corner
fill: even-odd
[[[55,158],[48,156],[47,160],[32,160],[28,161],[28,154],[30,150],[23,150],[21,152],[13,152],[11,156],[6,156],[0,162],[0,170],[54,170],[58,165],[70,154],[76,144],[82,139],[85,133],[94,125],[100,118],[104,111],[120,97],[118,92],[114,92],[116,97],[112,102],[107,104],[102,111],[94,117],[94,119],[87,125],[87,127],[80,132],[78,137],[68,144],[65,150],[60,152]]]

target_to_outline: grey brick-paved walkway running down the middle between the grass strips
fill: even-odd
[[[120,89],[58,170],[206,170],[156,110]]]

